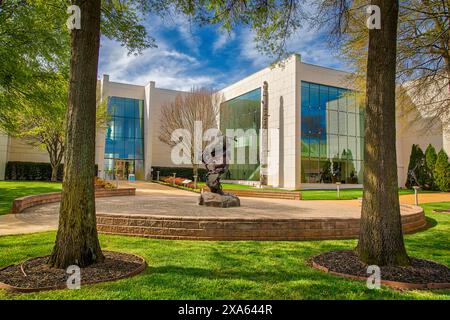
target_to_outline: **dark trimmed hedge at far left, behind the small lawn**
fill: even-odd
[[[57,180],[62,181],[64,165],[58,168]],[[98,167],[95,165],[97,175]],[[43,162],[9,161],[6,164],[5,180],[37,180],[50,181],[52,178],[52,166]]]

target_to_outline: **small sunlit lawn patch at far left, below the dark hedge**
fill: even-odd
[[[11,210],[12,201],[32,194],[61,191],[59,182],[0,181],[0,215]]]

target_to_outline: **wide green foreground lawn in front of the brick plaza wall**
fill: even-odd
[[[406,236],[412,256],[450,265],[450,215],[433,214],[450,202],[423,205],[433,228]],[[50,252],[55,233],[0,237],[0,267]],[[344,241],[170,241],[100,236],[108,250],[145,257],[148,269],[115,283],[32,294],[0,290],[0,299],[450,299],[450,290],[369,290],[352,281],[311,269],[306,260],[320,252],[353,248]]]

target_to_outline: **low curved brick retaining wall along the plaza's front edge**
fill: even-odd
[[[423,210],[402,216],[402,229],[426,227]],[[421,210],[421,211],[419,211]],[[106,234],[184,240],[325,240],[356,238],[357,218],[243,219],[151,215],[97,215],[98,231]]]

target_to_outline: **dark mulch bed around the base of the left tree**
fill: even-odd
[[[145,270],[147,264],[139,256],[103,251],[105,260],[81,269],[81,288],[86,284],[128,278]],[[50,268],[48,256],[26,260],[0,270],[0,288],[16,292],[65,289],[70,274],[65,269]]]

